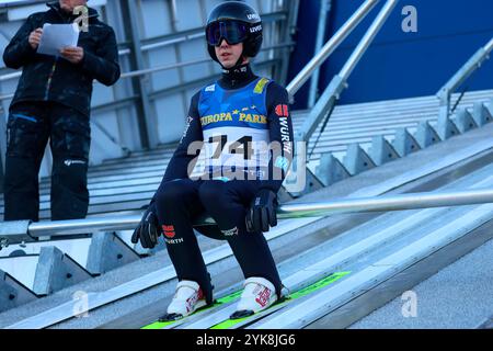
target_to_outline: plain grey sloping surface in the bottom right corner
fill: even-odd
[[[376,309],[349,329],[479,327],[493,315],[493,240],[423,281],[410,292]],[[410,305],[411,296],[415,296],[415,309]]]

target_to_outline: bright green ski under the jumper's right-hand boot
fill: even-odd
[[[307,296],[316,291],[319,291],[330,284],[335,283],[336,281],[343,279],[344,276],[348,275],[351,272],[335,272],[332,273],[320,281],[314,282],[313,284],[310,284],[306,287],[302,287],[296,292],[293,292],[287,296],[284,301],[278,302],[267,309],[264,309],[260,313],[256,313],[252,316],[239,318],[239,319],[226,319],[219,324],[214,325],[210,327],[210,329],[231,329],[231,328],[239,328],[246,325],[250,325],[261,318],[264,318],[265,316],[272,315],[276,310],[279,310],[284,307],[286,307],[288,304],[290,304],[293,301],[298,299],[300,297]]]

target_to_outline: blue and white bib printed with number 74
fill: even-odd
[[[265,92],[270,80],[259,78],[237,90],[219,84],[203,89],[198,104],[205,172],[257,171],[270,162],[270,136]]]

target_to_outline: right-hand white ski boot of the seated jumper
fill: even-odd
[[[252,276],[244,281],[240,302],[230,318],[238,319],[266,309],[277,301],[274,284],[263,278]]]

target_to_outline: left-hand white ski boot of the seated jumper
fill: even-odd
[[[167,315],[162,316],[160,321],[171,321],[190,316],[206,304],[204,293],[198,283],[181,281],[177,283],[173,299],[168,306]]]

